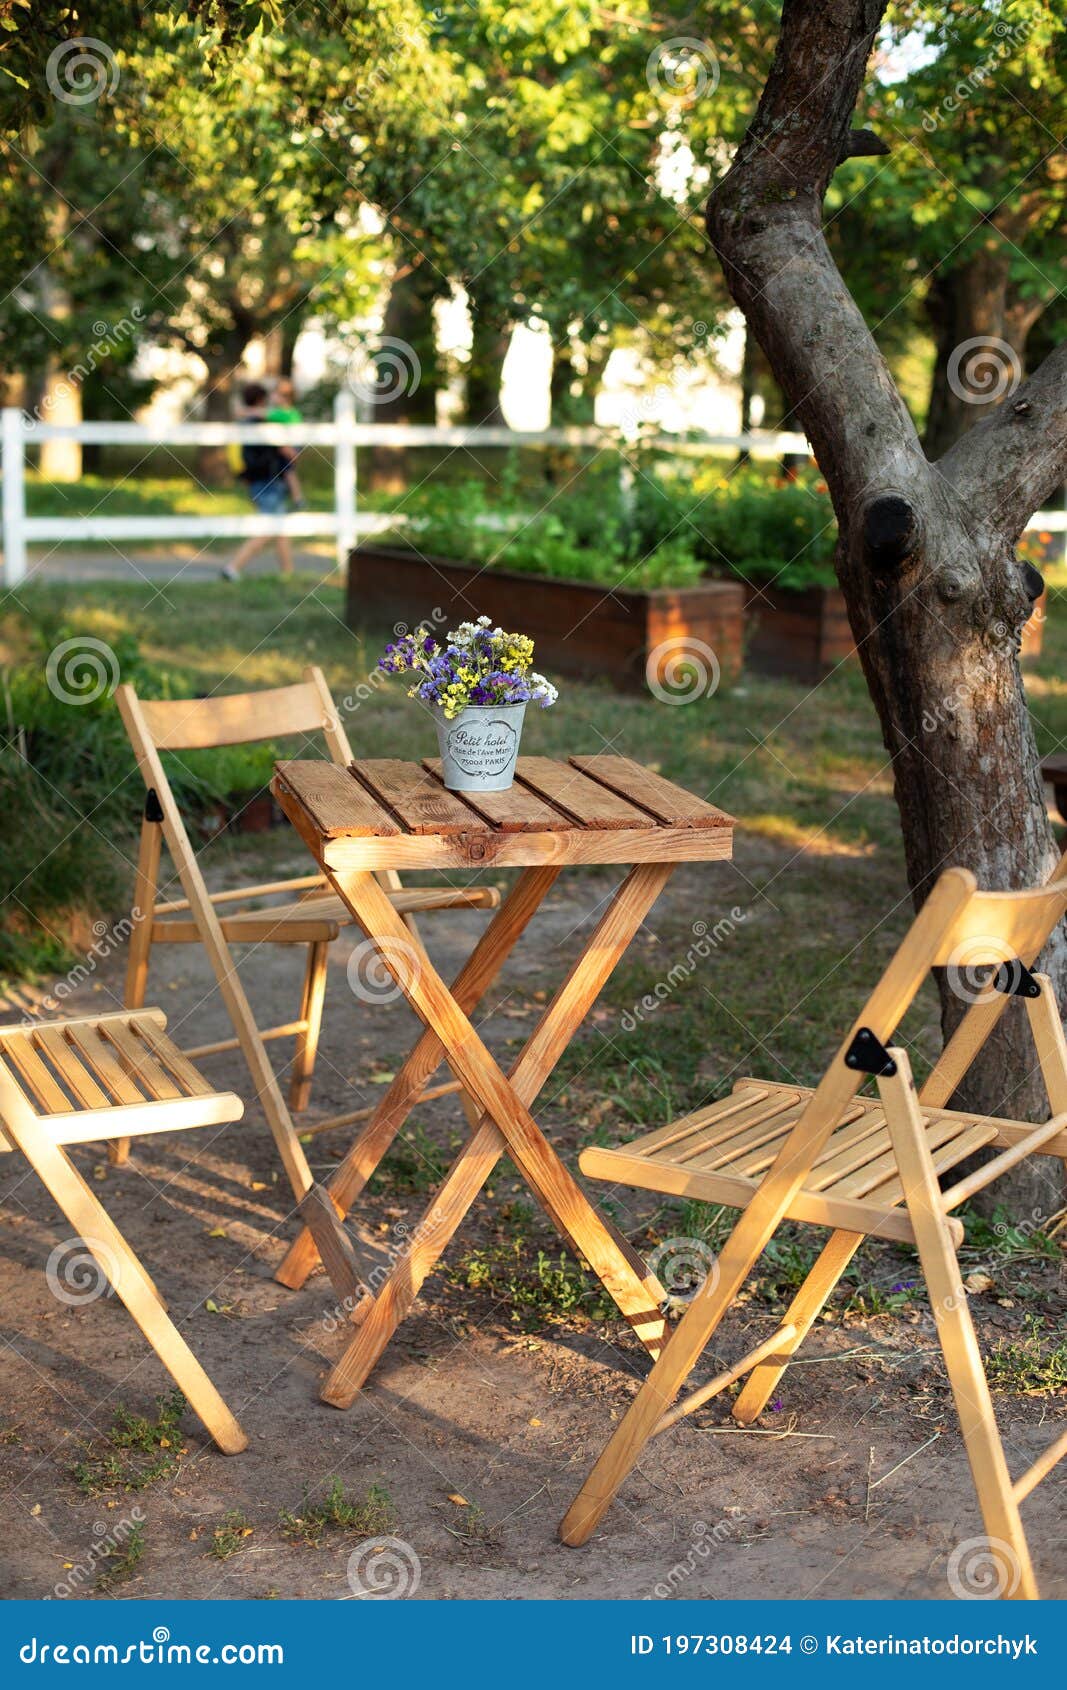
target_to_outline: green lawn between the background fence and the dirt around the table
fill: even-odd
[[[1050,570],[1048,583],[1045,651],[1026,674],[1042,750],[1067,742],[1067,570]],[[0,612],[0,664],[36,652],[39,661],[32,624],[42,619],[105,641],[117,652],[135,652],[137,673],[166,674],[174,691],[277,686],[298,679],[315,661],[326,673],[357,754],[389,747],[392,755],[418,759],[433,749],[402,684],[369,684],[387,630],[345,627],[342,590],[328,581],[178,581],[166,592],[139,581],[30,585]],[[566,681],[561,703],[536,711],[524,737],[524,750],[544,755],[604,745],[707,794],[737,815],[741,826],[734,867],[690,874],[692,902],[654,911],[553,1077],[546,1110],[572,1132],[577,1127],[580,1142],[617,1142],[720,1095],[746,1073],[815,1082],[910,919],[889,771],[856,668],[839,669],[817,688],[746,674],[732,691],[687,708],[619,695],[595,679]],[[287,754],[298,747],[281,742],[277,749]],[[262,755],[265,769],[274,747]],[[245,774],[254,779],[257,772]],[[123,853],[123,887],[139,808],[139,782],[130,777],[130,833],[123,837],[118,816],[108,823],[110,840]],[[211,842],[203,852],[208,872],[222,870],[232,848],[225,837]],[[499,879],[506,884],[507,877]],[[585,872],[590,908],[610,884],[605,870]],[[707,921],[714,931],[732,908],[741,918],[712,957],[700,968],[681,970],[681,984],[636,1017],[634,1007],[685,960],[692,924]],[[561,941],[561,948],[568,943],[577,946],[578,940]],[[536,935],[531,946],[536,955]],[[544,958],[553,980],[556,962]],[[932,990],[920,995],[901,1033],[922,1077],[923,1061],[940,1044]],[[440,1137],[411,1127],[375,1190],[421,1193],[436,1185],[448,1154]],[[610,1193],[610,1203],[621,1225],[634,1224],[626,1193]],[[697,1222],[675,1217],[670,1232],[690,1225]],[[1004,1225],[1013,1227],[1010,1217]],[[989,1249],[998,1259],[1021,1251],[1037,1259],[1042,1249],[1011,1230],[986,1240],[972,1235],[969,1247]],[[1052,1254],[1059,1247],[1053,1244]],[[808,1246],[783,1230],[764,1262],[764,1295],[788,1296],[807,1259]],[[911,1274],[893,1261],[884,1274],[871,1278],[864,1269],[866,1279],[847,1281],[852,1306],[879,1313],[910,1301]],[[539,1252],[534,1229],[521,1217],[506,1237],[460,1257],[451,1273],[511,1300],[523,1325],[595,1318],[595,1305],[583,1301],[588,1281],[568,1257]]]

